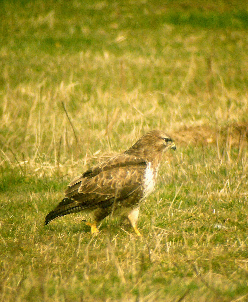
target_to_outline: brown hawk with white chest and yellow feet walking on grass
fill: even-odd
[[[79,211],[91,212],[91,233],[108,215],[126,216],[135,233],[141,202],[153,191],[164,151],[176,149],[164,132],[153,130],[143,135],[124,153],[88,169],[68,184],[65,198],[46,215],[45,225],[57,217]]]

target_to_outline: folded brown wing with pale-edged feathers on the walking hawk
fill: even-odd
[[[65,197],[85,208],[108,206],[122,200],[142,186],[144,159],[120,154],[102,162],[69,183]]]

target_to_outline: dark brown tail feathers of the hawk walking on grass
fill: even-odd
[[[72,199],[64,198],[54,210],[46,215],[45,225],[57,217],[61,217],[70,213],[77,213],[82,209],[84,209],[84,207],[78,205],[78,203],[76,203]]]

